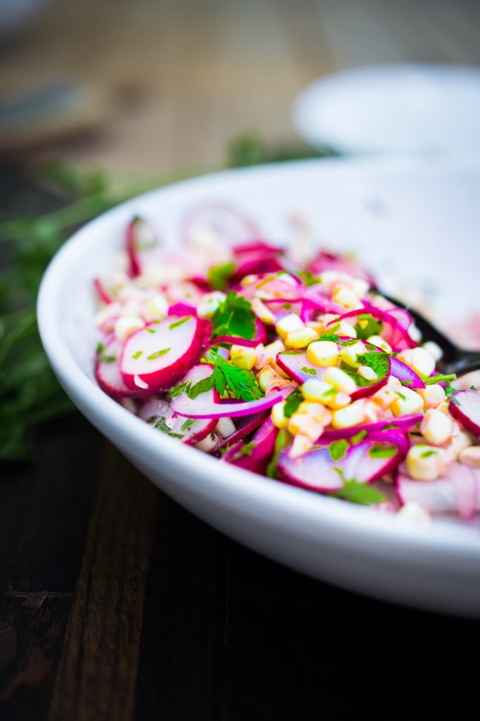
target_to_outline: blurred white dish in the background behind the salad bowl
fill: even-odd
[[[312,82],[293,121],[312,146],[342,154],[475,154],[480,67],[399,64],[354,68]]]

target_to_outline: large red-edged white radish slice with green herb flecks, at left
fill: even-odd
[[[124,343],[120,370],[132,390],[171,386],[199,358],[204,342],[203,325],[193,316],[171,316],[153,321]]]

